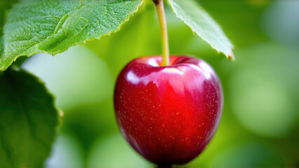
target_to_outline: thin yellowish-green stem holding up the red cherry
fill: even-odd
[[[157,8],[160,28],[161,28],[161,39],[162,39],[162,66],[169,65],[169,46],[168,46],[168,34],[167,34],[167,25],[166,17],[164,10],[163,0],[153,0]]]

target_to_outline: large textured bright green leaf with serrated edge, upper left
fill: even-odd
[[[4,26],[0,71],[21,56],[55,55],[119,30],[142,0],[27,0],[13,6]]]

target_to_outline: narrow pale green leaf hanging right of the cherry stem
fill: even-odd
[[[234,59],[232,43],[217,22],[197,2],[194,0],[168,0],[168,4],[175,15],[190,26],[192,31],[201,36],[204,41],[208,42],[212,48],[223,52],[229,59]]]

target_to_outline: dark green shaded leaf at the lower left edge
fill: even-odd
[[[0,165],[42,167],[58,125],[53,96],[25,71],[0,72]]]

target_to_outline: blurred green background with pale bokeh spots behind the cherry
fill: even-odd
[[[184,167],[299,167],[299,1],[199,3],[234,43],[236,60],[218,54],[166,6],[171,54],[206,60],[225,94],[215,137]],[[154,167],[121,137],[112,101],[124,65],[160,53],[156,11],[147,2],[117,33],[28,59],[22,67],[46,82],[64,112],[46,167]]]

